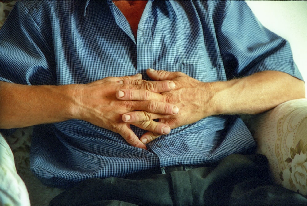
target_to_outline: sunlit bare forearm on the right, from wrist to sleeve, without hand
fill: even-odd
[[[276,71],[214,82],[211,86],[214,114],[258,114],[288,100],[305,98],[303,81]]]

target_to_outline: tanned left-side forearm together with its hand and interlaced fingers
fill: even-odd
[[[123,84],[125,79],[135,82]],[[145,81],[140,74],[106,77],[89,84],[62,86],[28,86],[0,81],[0,128],[26,127],[80,119],[119,133],[132,146],[146,149],[145,144],[130,129],[130,123],[122,121],[122,115],[136,110],[174,115],[177,114],[178,108],[173,104],[154,100],[118,100],[116,98],[120,95],[118,91],[146,89],[160,93],[170,91],[173,87],[173,81]],[[170,132],[168,125],[153,120],[134,122],[134,125],[160,134]]]

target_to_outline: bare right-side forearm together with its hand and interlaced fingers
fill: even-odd
[[[152,99],[173,103],[179,108],[179,113],[173,116],[157,116],[134,110],[122,115],[123,121],[127,123],[159,119],[159,123],[177,128],[212,115],[257,114],[290,99],[305,97],[304,82],[282,72],[265,71],[241,79],[210,83],[200,82],[181,72],[148,69],[147,75],[154,81],[172,80],[176,87],[170,92],[160,94],[130,89],[119,99]],[[129,118],[126,118],[127,116]],[[140,139],[148,143],[159,136],[147,132]]]

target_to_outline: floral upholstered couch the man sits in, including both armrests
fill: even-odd
[[[0,1],[0,28],[16,1]],[[257,153],[269,160],[278,185],[307,196],[307,99],[241,116],[255,138]],[[0,133],[0,206],[45,206],[63,189],[44,186],[30,170],[32,127]]]

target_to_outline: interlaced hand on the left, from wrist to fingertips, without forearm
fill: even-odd
[[[124,79],[135,81],[134,84],[123,84]],[[171,83],[171,84],[170,84]],[[173,104],[150,101],[121,101],[116,98],[117,91],[122,89],[150,90],[151,92],[166,92],[173,88],[172,81],[145,81],[142,75],[125,77],[107,77],[89,84],[77,84],[75,94],[74,113],[77,119],[91,122],[119,133],[130,145],[147,149],[130,129],[130,123],[122,121],[122,114],[130,111],[142,110],[161,115],[177,114],[177,107]],[[146,131],[168,134],[170,127],[155,121],[134,122],[134,125]]]

